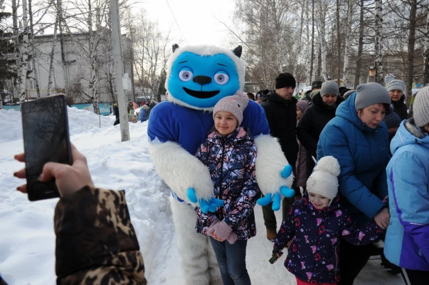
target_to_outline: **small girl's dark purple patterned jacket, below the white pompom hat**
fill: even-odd
[[[359,230],[339,205],[339,196],[325,209],[315,209],[308,196],[294,202],[278,231],[273,254],[293,239],[287,250],[285,267],[308,283],[339,281],[338,245],[346,239],[364,245],[378,238],[382,229],[375,222]],[[344,241],[343,241],[344,242]]]

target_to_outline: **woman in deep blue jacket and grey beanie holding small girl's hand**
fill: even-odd
[[[382,228],[389,225],[386,166],[389,135],[382,122],[389,110],[390,96],[378,83],[357,86],[337,108],[335,118],[323,128],[317,144],[317,159],[332,155],[341,166],[339,194],[353,221],[363,227],[373,219]],[[339,245],[339,285],[352,285],[371,256],[372,245]]]

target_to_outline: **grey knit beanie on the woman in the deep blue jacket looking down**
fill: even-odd
[[[355,98],[356,110],[361,110],[374,104],[390,104],[389,92],[382,85],[374,82],[357,85]]]

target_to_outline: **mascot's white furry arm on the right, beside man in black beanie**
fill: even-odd
[[[255,145],[258,151],[255,163],[256,180],[262,193],[267,195],[278,192],[282,186],[292,187],[293,173],[288,178],[281,175],[289,162],[277,139],[270,135],[260,135],[255,137]]]

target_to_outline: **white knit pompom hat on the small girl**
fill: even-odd
[[[338,193],[339,163],[333,156],[322,157],[307,180],[307,191],[330,199]]]

